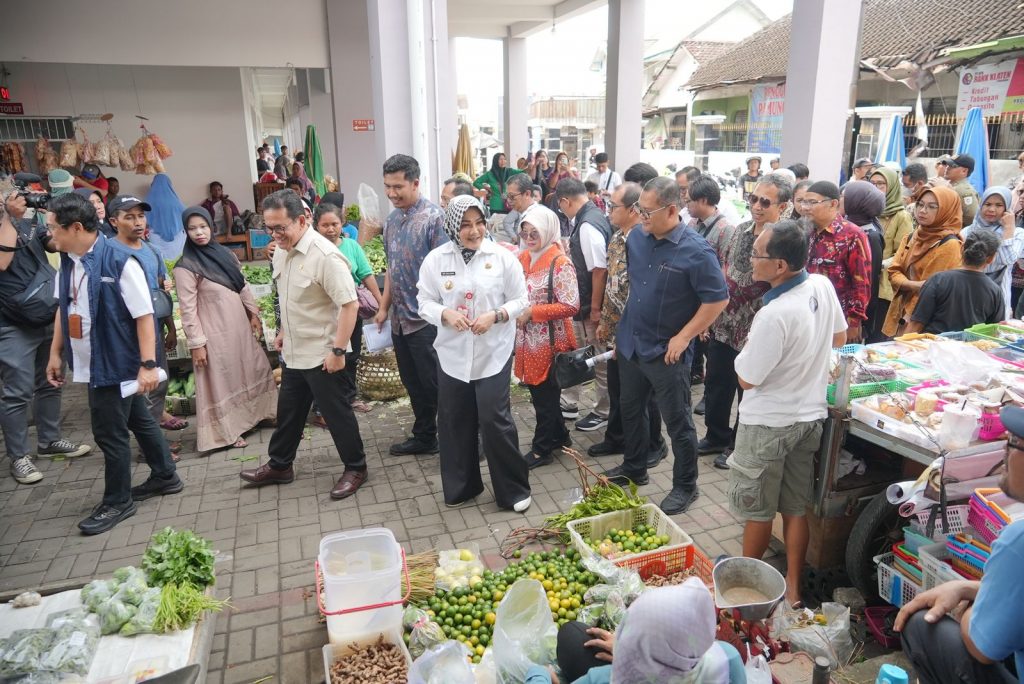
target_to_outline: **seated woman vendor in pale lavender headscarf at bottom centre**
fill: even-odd
[[[696,578],[674,587],[649,589],[626,611],[615,636],[566,623],[558,633],[558,665],[564,681],[571,684],[745,684],[739,653],[730,644],[715,640],[716,619],[711,592]],[[597,638],[581,639],[584,631]],[[526,684],[559,681],[554,670],[542,666],[526,673]]]

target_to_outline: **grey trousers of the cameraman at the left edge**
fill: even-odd
[[[7,456],[28,456],[29,402],[36,419],[37,441],[60,438],[60,388],[46,381],[53,326],[23,328],[0,323],[0,426]]]

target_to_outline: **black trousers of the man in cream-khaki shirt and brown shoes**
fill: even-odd
[[[282,372],[278,427],[267,447],[271,468],[286,470],[295,461],[295,450],[302,441],[309,407],[316,399],[345,470],[367,469],[359,423],[347,398],[351,393],[351,378],[344,371],[328,373],[322,368],[286,368]]]

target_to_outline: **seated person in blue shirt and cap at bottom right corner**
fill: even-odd
[[[1008,407],[1001,418],[1010,438],[999,488],[1024,501],[1024,409]],[[981,582],[947,582],[900,609],[895,629],[902,632],[903,651],[922,684],[1019,681],[1024,673],[1022,567],[1024,521],[1018,521],[992,545]]]

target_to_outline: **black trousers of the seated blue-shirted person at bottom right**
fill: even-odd
[[[921,684],[1011,684],[1017,682],[1000,662],[982,665],[968,652],[959,623],[943,617],[930,625],[926,610],[910,616],[903,628],[903,652],[913,664]]]

